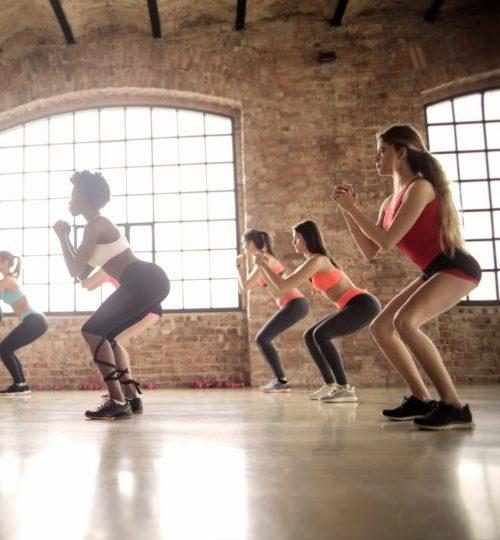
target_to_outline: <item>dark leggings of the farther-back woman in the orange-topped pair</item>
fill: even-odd
[[[309,312],[309,304],[305,298],[294,298],[275,313],[258,331],[255,341],[260,352],[267,360],[278,379],[285,378],[278,351],[272,344],[273,339],[303,319]]]

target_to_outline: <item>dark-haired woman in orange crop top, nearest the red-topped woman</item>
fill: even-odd
[[[304,334],[306,346],[325,381],[310,398],[326,403],[355,402],[358,400],[355,389],[347,382],[342,359],[332,340],[367,326],[380,312],[380,303],[367,291],[355,287],[328,256],[313,221],[302,221],[293,227],[293,246],[306,260],[288,277],[276,275],[265,254],[255,254],[255,263],[277,293],[286,294],[309,279],[315,290],[339,308]]]

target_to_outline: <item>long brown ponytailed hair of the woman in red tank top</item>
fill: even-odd
[[[406,149],[408,166],[414,174],[429,180],[434,186],[439,203],[439,241],[443,251],[454,254],[463,247],[464,239],[457,209],[453,203],[450,183],[441,163],[425,148],[422,137],[409,125],[395,125],[377,135],[378,139],[400,150]]]

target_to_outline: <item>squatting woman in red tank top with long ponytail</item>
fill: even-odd
[[[415,129],[396,125],[380,134],[375,164],[379,176],[393,178],[393,194],[382,204],[377,223],[357,206],[351,185],[335,186],[332,198],[367,259],[397,246],[422,271],[370,326],[377,345],[411,392],[399,407],[385,409],[382,415],[413,420],[421,429],[471,428],[469,407],[462,406],[439,352],[421,326],[468,295],[479,283],[481,269],[463,248],[444,171]],[[441,401],[431,400],[412,355]]]

